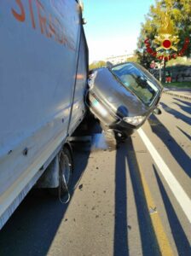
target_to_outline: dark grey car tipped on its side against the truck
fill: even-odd
[[[86,102],[107,134],[123,141],[157,108],[163,87],[151,73],[132,62],[90,72]]]

